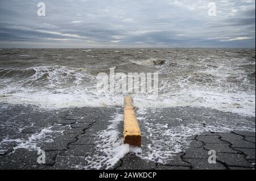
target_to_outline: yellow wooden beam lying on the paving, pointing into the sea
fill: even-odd
[[[132,146],[141,146],[141,130],[139,129],[139,124],[130,96],[125,96],[124,98],[123,143]]]

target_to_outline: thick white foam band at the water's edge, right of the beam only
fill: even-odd
[[[181,90],[165,96],[138,96],[135,107],[206,107],[255,117],[255,95],[240,92],[215,92],[204,90]]]

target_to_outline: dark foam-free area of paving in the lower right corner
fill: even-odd
[[[208,162],[209,150],[216,151],[216,163]],[[255,170],[255,133],[234,131],[232,133],[204,133],[191,138],[191,144],[183,153],[177,154],[167,164],[145,162],[134,154],[122,159],[116,169],[160,170]]]

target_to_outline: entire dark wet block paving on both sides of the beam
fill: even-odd
[[[0,106],[0,169],[255,169],[255,117],[190,107],[136,110],[141,152],[96,167],[92,162],[108,158],[104,144],[122,139],[122,121],[110,121],[122,108]],[[102,136],[111,129],[115,138]],[[44,164],[37,162],[39,149],[46,151]],[[209,150],[216,163],[208,163]]]

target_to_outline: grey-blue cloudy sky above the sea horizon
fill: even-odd
[[[0,47],[255,48],[255,0],[1,0]]]

